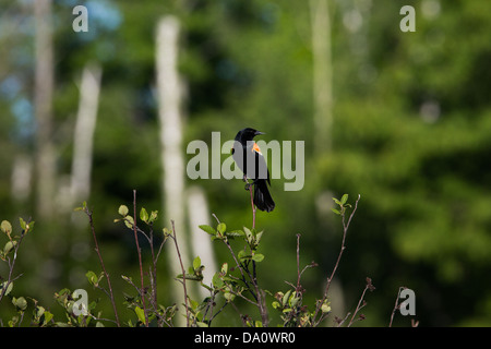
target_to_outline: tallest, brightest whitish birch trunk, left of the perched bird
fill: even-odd
[[[157,94],[160,121],[160,146],[163,166],[164,212],[166,226],[175,221],[176,236],[184,266],[190,265],[188,237],[184,227],[184,158],[182,153],[181,86],[178,74],[179,22],[165,16],[157,26]],[[182,274],[178,255],[173,249],[166,254],[173,275]],[[172,298],[177,304],[184,303],[183,289],[173,284]],[[182,310],[182,309],[181,309]],[[184,313],[184,312],[181,312]],[[181,318],[181,316],[177,316]],[[178,324],[182,325],[182,323]]]

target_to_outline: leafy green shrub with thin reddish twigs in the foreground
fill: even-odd
[[[23,239],[33,230],[34,221],[24,221],[20,219],[21,233],[19,236],[12,234],[12,226],[9,221],[1,222],[1,230],[7,236],[8,241],[2,251],[0,251],[0,258],[8,263],[9,275],[1,282],[0,302],[5,298],[10,298],[12,305],[16,310],[16,314],[8,321],[8,326],[21,326],[25,321],[26,309],[28,303],[33,303],[33,312],[31,315],[31,326],[158,326],[172,327],[175,326],[175,317],[179,314],[180,309],[177,304],[161,305],[157,300],[157,265],[158,258],[166,243],[171,243],[176,249],[177,256],[181,266],[181,274],[176,276],[176,279],[182,286],[183,297],[183,312],[185,316],[187,326],[207,327],[214,324],[217,316],[223,314],[224,309],[232,308],[241,323],[244,326],[262,327],[271,326],[270,309],[279,313],[280,322],[274,324],[283,327],[315,327],[324,324],[324,321],[331,314],[331,300],[328,298],[328,290],[331,282],[337,272],[342,260],[344,250],[346,249],[346,236],[348,233],[349,225],[355,216],[358,207],[360,196],[354,205],[348,204],[348,195],[343,195],[340,200],[333,198],[337,208],[333,212],[340,216],[343,225],[343,239],[339,254],[332,273],[325,281],[323,294],[313,303],[306,304],[303,299],[304,289],[301,285],[301,278],[306,270],[315,267],[316,264],[312,262],[309,265],[300,266],[300,234],[297,234],[297,280],[294,282],[287,281],[288,290],[278,290],[270,292],[259,284],[258,264],[265,263],[266,256],[260,253],[261,237],[263,231],[255,228],[255,219],[253,219],[252,228],[243,227],[241,230],[229,230],[224,221],[220,221],[216,215],[216,226],[202,225],[200,228],[213,241],[219,242],[230,254],[233,263],[221,263],[220,270],[217,272],[209,285],[203,282],[203,268],[201,258],[196,256],[192,265],[187,268],[179,251],[179,243],[177,239],[177,231],[173,221],[170,221],[170,228],[164,228],[158,232],[159,237],[156,239],[154,231],[154,222],[158,219],[158,212],[152,210],[149,214],[146,208],[140,209],[140,215],[136,216],[136,192],[133,192],[133,215],[130,215],[130,209],[125,205],[121,205],[118,209],[120,218],[115,219],[115,222],[122,222],[133,231],[136,251],[139,254],[140,278],[137,281],[132,277],[121,275],[121,277],[135,290],[133,296],[124,296],[123,305],[134,312],[134,317],[121,322],[118,314],[118,306],[115,301],[113,290],[111,286],[110,276],[104,264],[103,255],[99,250],[96,231],[93,222],[93,213],[83,203],[82,207],[75,208],[86,214],[94,239],[95,251],[97,253],[100,272],[88,270],[86,278],[89,285],[104,292],[110,300],[113,310],[113,320],[101,317],[101,312],[97,311],[97,302],[87,303],[86,294],[84,298],[81,290],[74,292],[69,289],[62,289],[55,293],[55,300],[64,309],[65,318],[53,318],[53,314],[38,304],[38,301],[29,297],[15,297],[12,292],[14,281],[21,276],[14,276],[13,270],[17,257],[17,250],[20,249]],[[251,196],[252,197],[252,196]],[[255,218],[255,207],[253,207],[253,217]],[[139,221],[140,218],[140,221]],[[139,244],[139,236],[144,237],[144,240],[149,245],[151,265],[143,266],[142,250]],[[156,241],[159,241],[158,244]],[[231,240],[240,242],[239,248],[232,248]],[[143,270],[148,269],[148,281],[144,282]],[[147,282],[148,282],[147,281]],[[192,299],[189,294],[190,282],[197,282],[200,287],[206,290],[208,294],[204,299]],[[366,287],[362,291],[357,308],[352,313],[348,313],[344,318],[335,318],[336,326],[351,326],[356,321],[364,318],[360,310],[366,305],[364,296],[367,290],[374,290],[370,278],[366,280]],[[241,299],[244,302],[252,304],[256,310],[256,315],[242,314],[237,300]],[[181,311],[182,313],[182,311]],[[0,318],[0,321],[2,321]],[[3,322],[1,325],[4,325]]]

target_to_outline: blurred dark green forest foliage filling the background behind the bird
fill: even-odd
[[[182,29],[184,144],[208,142],[212,131],[231,140],[244,127],[266,132],[265,141],[306,141],[303,190],[285,192],[276,180],[275,210],[258,213],[266,289],[295,279],[300,232],[303,264],[319,264],[303,276],[304,297],[319,297],[342,239],[331,196],[348,192],[363,200],[338,272],[346,308],[356,306],[367,276],[376,285],[360,325],[387,325],[400,286],[415,290],[421,326],[491,325],[491,2],[330,1],[333,149],[322,155],[312,148],[309,1],[81,1],[88,33],[72,31],[75,4],[53,4],[57,165],[61,182],[70,171],[80,75],[97,61],[104,72],[89,205],[112,275],[137,273],[131,236],[112,222],[116,208],[130,204],[136,189],[142,205],[165,212],[155,28],[175,14]],[[414,33],[399,29],[405,4],[416,9]],[[86,222],[67,214],[73,207],[40,221],[33,194],[21,200],[11,192],[15,160],[33,156],[34,26],[26,2],[0,7],[0,219],[36,220],[17,282],[55,313],[53,292],[88,289],[85,273],[98,270],[97,260]],[[230,229],[250,225],[241,181],[188,182],[205,189],[211,212]],[[2,277],[5,272],[0,266]],[[122,300],[125,286],[117,279]],[[168,298],[168,290],[158,291]],[[0,317],[9,311],[0,304]],[[395,324],[408,318],[396,316]]]

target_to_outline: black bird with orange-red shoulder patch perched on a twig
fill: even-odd
[[[259,134],[264,133],[250,128],[240,130],[236,135],[231,153],[233,160],[244,173],[244,180],[252,179],[252,183],[248,183],[246,189],[254,185],[254,205],[261,210],[272,212],[275,208],[275,202],[267,189],[267,184],[271,185],[270,171],[261,149],[253,141]]]

